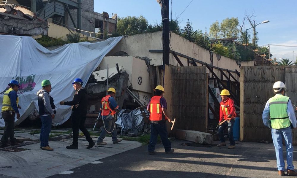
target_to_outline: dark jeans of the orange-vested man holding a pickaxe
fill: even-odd
[[[168,140],[168,132],[166,128],[166,123],[153,124],[151,123],[151,138],[149,140],[149,152],[155,151],[155,145],[157,144],[158,134],[160,134],[162,144],[164,146],[165,152],[171,150],[171,143]]]

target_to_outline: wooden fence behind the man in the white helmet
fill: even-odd
[[[268,99],[274,96],[272,86],[276,81],[285,82],[285,95],[297,105],[297,67],[241,67],[240,75],[240,140],[272,142],[271,131],[262,121],[263,109]],[[293,135],[293,144],[297,145],[296,130]]]

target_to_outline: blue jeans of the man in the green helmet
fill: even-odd
[[[50,130],[52,129],[52,116],[40,116],[41,119],[41,130],[40,130],[40,146],[48,146],[48,137],[50,135]]]

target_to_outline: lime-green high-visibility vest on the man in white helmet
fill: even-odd
[[[274,129],[290,127],[291,122],[287,113],[287,104],[289,97],[276,94],[270,98],[269,101],[269,114],[271,127]]]

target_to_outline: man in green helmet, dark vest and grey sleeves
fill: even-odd
[[[48,145],[48,137],[52,128],[52,119],[55,118],[56,106],[50,96],[52,85],[49,80],[41,82],[42,89],[37,92],[38,110],[41,119],[40,148],[42,150],[53,151]]]

